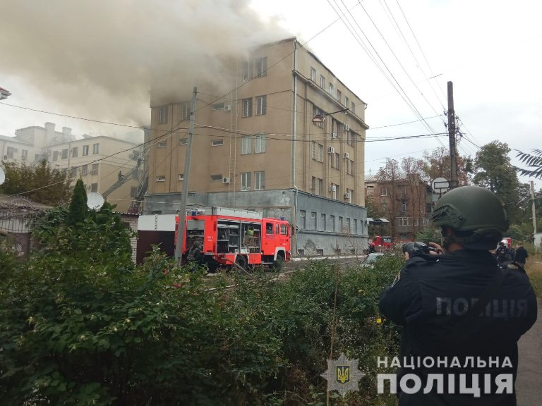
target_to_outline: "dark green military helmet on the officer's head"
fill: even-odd
[[[478,235],[508,230],[507,214],[500,199],[478,186],[457,187],[442,196],[433,210],[433,224]]]

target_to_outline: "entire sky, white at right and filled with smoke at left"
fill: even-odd
[[[151,84],[191,91],[222,56],[296,36],[368,104],[366,175],[448,147],[445,135],[378,138],[446,133],[449,81],[460,155],[498,140],[519,164],[514,149],[541,148],[542,4],[532,0],[2,0],[0,15],[0,87],[12,93],[1,135],[51,121],[138,140]]]

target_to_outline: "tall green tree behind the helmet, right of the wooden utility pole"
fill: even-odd
[[[474,160],[473,182],[500,197],[513,223],[521,217],[517,203],[526,195],[525,187],[528,185],[519,183],[516,171],[510,164],[509,152],[508,145],[499,141],[481,147],[480,151],[476,152]]]

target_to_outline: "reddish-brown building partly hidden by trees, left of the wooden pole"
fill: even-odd
[[[431,225],[433,189],[420,176],[383,180],[365,178],[366,200],[390,221],[389,233],[395,242],[413,241],[416,233]]]

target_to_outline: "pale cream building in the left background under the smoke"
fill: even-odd
[[[71,128],[54,128],[54,123],[45,123],[20,128],[15,137],[1,136],[4,160],[32,164],[48,159],[53,167],[70,170],[74,183],[82,178],[88,192],[100,192],[117,211],[127,211],[142,181],[138,144],[105,136],[76,139]]]

